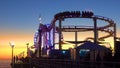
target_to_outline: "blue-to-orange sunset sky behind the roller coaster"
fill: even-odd
[[[120,0],[0,0],[0,59],[11,58],[11,41],[15,43],[14,55],[26,52],[26,43],[33,45],[40,14],[42,22],[50,24],[56,13],[90,10],[95,15],[113,19],[117,24],[117,36],[120,37],[119,6]],[[89,21],[85,25],[90,25]],[[79,36],[86,35],[88,33]],[[66,40],[71,37],[74,38],[72,34],[65,34]]]

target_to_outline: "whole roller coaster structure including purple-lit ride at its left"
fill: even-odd
[[[62,21],[67,18],[86,18],[92,19],[94,25],[93,26],[62,26]],[[107,23],[104,26],[97,26],[97,20],[101,20]],[[56,22],[59,22],[59,26],[56,26]],[[114,43],[116,40],[116,24],[110,18],[94,15],[91,11],[65,11],[57,13],[54,16],[51,24],[39,24],[39,28],[34,36],[34,46],[36,51],[39,53],[38,57],[41,56],[41,49],[45,48],[47,50],[52,50],[55,48],[56,44],[56,36],[58,36],[58,44],[59,50],[62,50],[61,42],[63,42],[63,34],[62,32],[75,32],[75,41],[67,41],[70,43],[74,43],[76,46],[78,43],[83,43],[84,41],[77,41],[77,32],[85,32],[85,31],[93,31],[94,37],[89,37],[88,39],[94,40],[94,43],[99,43],[99,40],[104,40],[108,37],[114,38]],[[105,32],[107,35],[99,37],[99,32]]]

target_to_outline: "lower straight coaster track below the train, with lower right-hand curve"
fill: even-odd
[[[93,30],[94,30],[93,27],[92,28],[90,28],[90,27],[89,28],[86,28],[86,27],[76,27],[76,26],[63,26],[62,27],[62,31],[63,32],[85,32],[85,31],[93,31]],[[108,33],[108,35],[100,37],[99,40],[111,37],[114,34],[114,32],[112,30],[110,30],[110,29],[97,28],[97,30],[102,31],[102,32],[104,31],[104,32]],[[94,38],[90,37],[90,38],[87,38],[87,39],[94,39]]]

